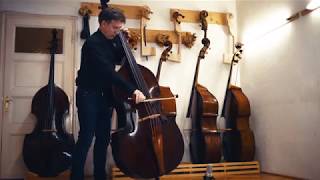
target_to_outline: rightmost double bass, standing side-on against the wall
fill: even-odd
[[[253,132],[249,127],[250,103],[240,87],[230,84],[232,67],[241,58],[241,44],[236,44],[231,61],[222,117],[228,131],[223,134],[223,155],[225,161],[252,161],[255,153]]]

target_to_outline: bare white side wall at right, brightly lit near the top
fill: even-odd
[[[320,177],[320,11],[267,34],[307,1],[238,1],[241,84],[266,172]],[[262,35],[264,34],[264,35]]]

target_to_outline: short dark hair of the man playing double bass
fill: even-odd
[[[102,21],[110,22],[112,20],[115,21],[121,21],[123,23],[126,22],[126,17],[119,9],[115,8],[105,8],[103,9],[98,17],[99,24],[101,24]]]

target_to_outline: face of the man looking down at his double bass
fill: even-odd
[[[113,39],[120,31],[123,22],[117,20],[111,20],[110,22],[102,21],[100,30],[107,39]]]

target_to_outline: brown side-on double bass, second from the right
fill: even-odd
[[[189,101],[187,117],[191,117],[192,131],[190,137],[191,161],[193,163],[215,163],[221,159],[221,138],[217,128],[218,101],[208,89],[197,82],[200,60],[210,46],[207,38],[208,12],[200,12],[203,48],[199,52],[193,87]]]

